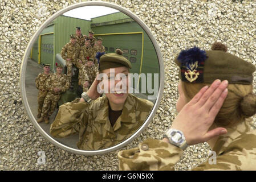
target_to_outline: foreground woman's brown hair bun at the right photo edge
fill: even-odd
[[[247,94],[243,97],[240,107],[246,118],[253,116],[256,113],[256,96],[254,94]]]

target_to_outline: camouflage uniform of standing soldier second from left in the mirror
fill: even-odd
[[[46,88],[48,93],[43,102],[42,117],[50,117],[54,112],[56,105],[60,99],[63,92],[70,87],[70,82],[68,81],[67,75],[62,74],[58,77],[57,73],[53,73],[46,81]],[[55,93],[54,88],[60,88],[60,92]]]

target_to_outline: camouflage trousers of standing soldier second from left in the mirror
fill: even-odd
[[[51,114],[54,112],[56,105],[58,104],[58,101],[60,99],[60,94],[53,94],[51,92],[48,92],[46,95],[46,98],[43,102],[43,109],[42,109],[42,117],[50,117]]]

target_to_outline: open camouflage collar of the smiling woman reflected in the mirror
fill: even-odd
[[[105,96],[104,96],[105,97]],[[122,114],[117,118],[115,125],[112,127],[108,118],[108,99],[104,98],[105,102],[103,109],[101,109],[95,118],[95,122],[105,123],[104,129],[114,133],[121,127],[121,122],[125,123],[136,123],[136,105],[135,98],[128,94],[127,99],[124,103]]]

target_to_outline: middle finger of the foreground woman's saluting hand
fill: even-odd
[[[209,97],[209,99],[206,101],[204,107],[206,111],[209,111],[212,106],[217,102],[217,100],[220,98],[222,92],[227,88],[227,85],[229,82],[227,80],[224,80],[221,82],[220,86],[216,90],[214,90],[213,94]],[[218,105],[219,106],[219,105]],[[221,106],[219,107],[219,109]]]

